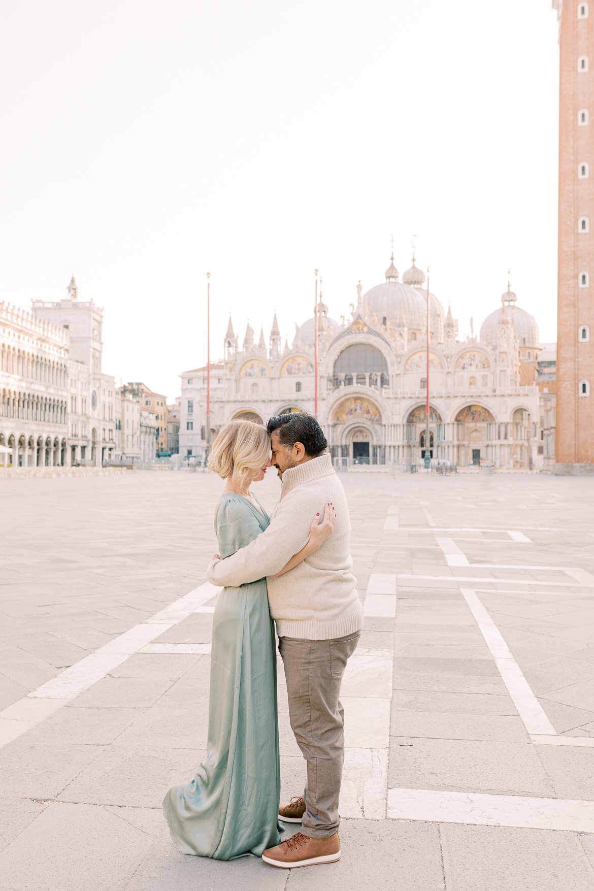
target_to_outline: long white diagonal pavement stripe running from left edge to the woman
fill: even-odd
[[[73,666],[64,668],[51,681],[37,687],[27,696],[13,702],[0,712],[0,747],[16,740],[37,723],[44,721],[59,708],[68,705],[77,696],[101,681],[112,668],[121,665],[129,656],[139,652],[156,637],[181,622],[209,601],[220,588],[209,582],[201,584],[160,609],[154,616],[134,625],[124,634],[118,634],[109,643],[81,659]]]

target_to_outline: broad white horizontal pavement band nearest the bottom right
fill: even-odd
[[[432,789],[389,789],[387,815],[391,820],[594,832],[594,801],[560,798]]]

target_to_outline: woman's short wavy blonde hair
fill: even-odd
[[[262,424],[230,421],[224,425],[208,455],[208,470],[231,477],[236,486],[248,486],[251,471],[260,470],[270,456],[270,437]]]

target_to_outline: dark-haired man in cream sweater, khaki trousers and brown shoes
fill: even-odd
[[[340,858],[338,797],[345,759],[340,683],[362,628],[362,604],[351,573],[351,522],[345,491],[332,468],[318,422],[305,413],[281,414],[267,425],[281,497],[270,526],[245,548],[214,560],[213,584],[237,586],[269,576],[268,600],[285,666],[289,716],[307,762],[303,797],[282,805],[284,822],[301,832],[264,851],[273,866],[290,869]],[[334,533],[318,551],[278,578],[309,538],[312,517],[331,503]]]

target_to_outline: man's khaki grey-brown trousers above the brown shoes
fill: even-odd
[[[289,717],[297,745],[307,762],[305,815],[301,831],[309,838],[329,838],[338,830],[338,797],[345,761],[345,715],[340,684],[346,661],[361,632],[334,641],[281,637]]]

